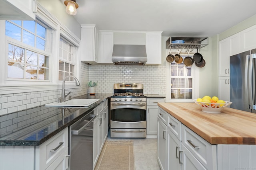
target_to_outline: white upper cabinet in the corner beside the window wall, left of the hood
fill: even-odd
[[[96,25],[81,25],[81,61],[98,61],[98,29]]]

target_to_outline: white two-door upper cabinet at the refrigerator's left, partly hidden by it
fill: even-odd
[[[241,33],[236,33],[222,41],[219,41],[219,77],[229,76],[230,63],[229,58],[241,52],[240,50]]]

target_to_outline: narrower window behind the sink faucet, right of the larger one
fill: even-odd
[[[72,45],[63,37],[60,37],[60,57],[59,57],[59,80],[63,80],[66,76],[74,76],[74,67],[76,65],[77,47]],[[69,81],[74,81],[69,78]]]

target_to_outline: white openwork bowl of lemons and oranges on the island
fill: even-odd
[[[206,113],[220,113],[222,109],[232,104],[232,102],[219,100],[216,96],[212,98],[210,96],[204,96],[193,101]]]

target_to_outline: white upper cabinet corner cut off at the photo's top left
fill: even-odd
[[[35,20],[37,0],[1,0],[0,20]]]

